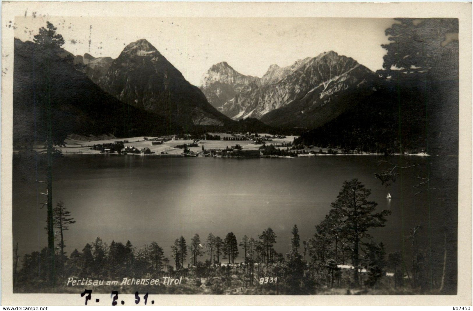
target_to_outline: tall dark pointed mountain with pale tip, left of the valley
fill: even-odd
[[[125,46],[99,85],[123,103],[165,115],[177,124],[222,125],[230,121],[146,39]]]

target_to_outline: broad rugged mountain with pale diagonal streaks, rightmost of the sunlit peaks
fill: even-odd
[[[274,85],[284,101],[261,116],[269,125],[316,128],[376,92],[374,72],[352,58],[326,52],[300,61]],[[266,93],[267,91],[265,91]]]

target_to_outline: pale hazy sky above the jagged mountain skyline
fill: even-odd
[[[117,58],[125,45],[145,38],[184,77],[199,85],[202,75],[220,61],[238,72],[262,77],[271,64],[288,66],[298,59],[335,51],[367,66],[382,68],[388,43],[388,18],[202,18],[202,17],[16,17],[15,37],[32,40],[50,21],[75,54]],[[89,43],[90,42],[90,43]]]

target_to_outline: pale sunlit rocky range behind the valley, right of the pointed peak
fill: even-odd
[[[378,81],[356,60],[330,51],[287,67],[273,64],[262,78],[242,75],[222,62],[207,71],[200,88],[233,120],[252,117],[271,126],[315,128],[376,92]]]

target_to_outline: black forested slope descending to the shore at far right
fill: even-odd
[[[443,98],[442,93],[437,83],[418,77],[384,81],[377,92],[303,133],[296,143],[377,153],[456,154],[457,123],[448,124],[455,119],[439,113],[455,112],[455,99]]]

